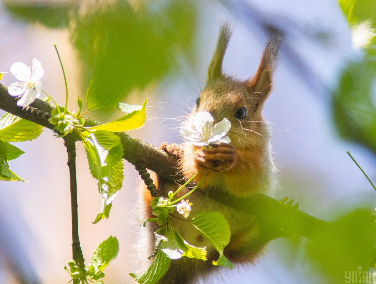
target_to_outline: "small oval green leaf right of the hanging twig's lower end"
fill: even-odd
[[[96,270],[103,271],[114,260],[119,252],[119,241],[110,236],[97,246],[92,257],[91,264]]]

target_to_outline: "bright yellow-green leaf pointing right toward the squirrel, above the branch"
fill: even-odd
[[[128,131],[140,128],[144,125],[146,119],[146,103],[147,99],[141,106],[132,106],[127,108],[123,106],[124,109],[132,110],[131,112],[127,113],[123,117],[118,118],[117,120],[89,127],[88,129],[91,130],[106,130],[112,132],[121,132],[121,131]],[[125,105],[125,104],[123,104]],[[119,106],[120,107],[120,106]]]

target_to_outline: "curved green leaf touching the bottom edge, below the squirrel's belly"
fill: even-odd
[[[170,267],[170,263],[170,258],[168,258],[161,249],[158,249],[152,265],[144,274],[129,273],[129,275],[135,278],[138,283],[154,284],[165,275],[168,267]]]

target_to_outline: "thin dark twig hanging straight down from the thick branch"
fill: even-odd
[[[76,144],[74,141],[64,138],[64,144],[68,153],[68,167],[70,178],[71,193],[71,214],[72,214],[72,256],[78,267],[85,267],[85,259],[83,258],[80,246],[80,238],[78,235],[78,203],[77,203],[77,178],[76,178]],[[73,280],[74,284],[79,283],[79,279]]]

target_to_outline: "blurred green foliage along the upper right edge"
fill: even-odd
[[[351,27],[365,21],[376,28],[376,1],[340,0]],[[341,137],[362,144],[376,153],[376,49],[375,38],[365,48],[364,56],[349,62],[333,93],[333,114]]]

